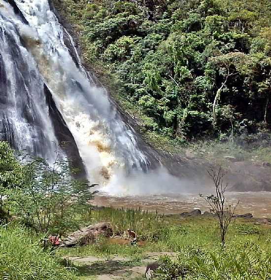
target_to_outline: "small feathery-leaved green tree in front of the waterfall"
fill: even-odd
[[[53,164],[42,158],[29,158],[23,166],[21,186],[10,199],[17,216],[36,233],[63,235],[77,228],[80,215],[90,208],[87,180],[72,178],[70,165],[57,152]]]

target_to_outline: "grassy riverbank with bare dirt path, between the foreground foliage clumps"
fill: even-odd
[[[129,218],[132,216],[134,218]],[[198,253],[213,251],[214,254],[221,250],[217,220],[212,216],[163,216],[138,210],[133,214],[129,212],[127,216],[125,210],[105,208],[94,210],[93,217],[97,221],[102,217],[111,222],[114,237],[101,238],[92,245],[57,250],[57,255],[68,260],[69,266],[76,269],[78,280],[143,280],[146,265],[163,259],[164,255],[170,260],[168,264],[171,261],[177,264],[184,258],[189,260],[185,255],[186,249]],[[130,241],[124,239],[122,234],[126,227],[138,232],[137,245],[131,245]],[[269,253],[270,237],[271,225],[256,224],[250,219],[234,220],[226,241],[229,260],[231,255],[236,254],[234,247],[238,247],[239,257],[242,256],[240,262],[243,262],[243,269],[246,269],[245,246],[254,244],[263,250],[263,254]],[[251,250],[249,253],[255,256],[256,265],[259,261],[257,252]],[[215,262],[212,261],[209,266],[215,267]],[[206,267],[202,263],[199,268],[204,270]],[[161,276],[157,279],[164,278]]]

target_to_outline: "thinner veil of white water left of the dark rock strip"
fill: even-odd
[[[0,2],[0,139],[52,159],[56,149],[43,79],[22,45],[13,9]]]

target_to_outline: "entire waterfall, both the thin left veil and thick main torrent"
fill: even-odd
[[[0,139],[50,158],[62,122],[62,135],[75,141],[70,149],[78,148],[92,182],[106,185],[119,174],[147,169],[133,129],[84,70],[75,48],[72,58],[68,32],[48,1],[13,3],[17,11],[0,0]]]

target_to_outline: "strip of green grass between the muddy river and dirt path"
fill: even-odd
[[[137,232],[143,245],[131,246],[112,244],[110,239],[101,239],[93,245],[66,248],[59,251],[69,256],[133,256],[140,258],[146,251],[178,252],[187,246],[212,248],[220,246],[220,232],[217,220],[212,217],[181,219],[178,215],[159,217],[156,213],[141,210],[115,210],[105,208],[92,211],[93,222],[107,221],[113,225],[114,233],[122,236],[127,228]],[[254,225],[247,220],[236,219],[229,227],[227,244],[254,242],[271,251],[271,229]]]

